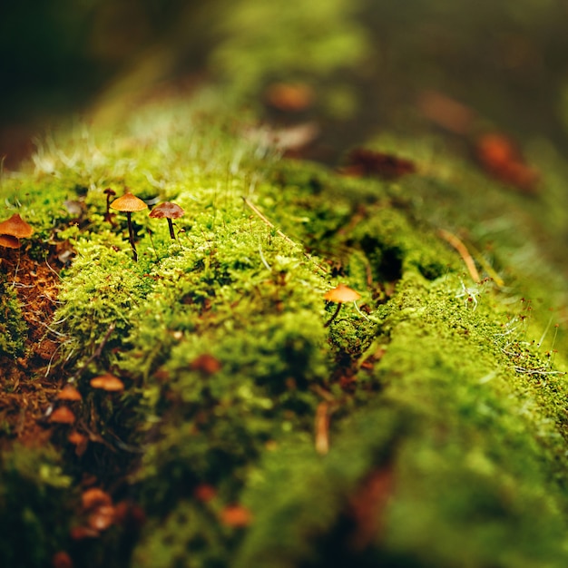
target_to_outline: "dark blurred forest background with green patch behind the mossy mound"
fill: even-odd
[[[432,91],[564,150],[567,23],[565,0],[3,3],[0,154],[17,162],[45,122],[110,97],[204,79],[261,113],[269,84],[307,85],[308,113],[286,118],[317,119],[332,156],[371,131],[427,126]]]

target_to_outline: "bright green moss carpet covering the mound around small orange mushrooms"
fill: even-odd
[[[114,132],[54,135],[5,176],[8,212],[36,230],[22,254],[61,261],[44,328],[57,348],[29,379],[52,381],[53,406],[65,382],[83,400],[73,427],[45,416],[45,447],[6,444],[0,521],[36,536],[1,540],[3,563],[566,565],[565,285],[549,246],[563,162],[535,152],[550,173],[527,196],[437,140],[369,147],[416,173],[282,159],[246,113],[202,93]],[[176,238],[132,213],[135,262],[106,188],[178,203]],[[24,334],[3,278],[2,325]],[[361,299],[332,319],[323,296],[338,283]],[[104,373],[124,390],[94,389]],[[88,484],[131,516],[77,540]]]

